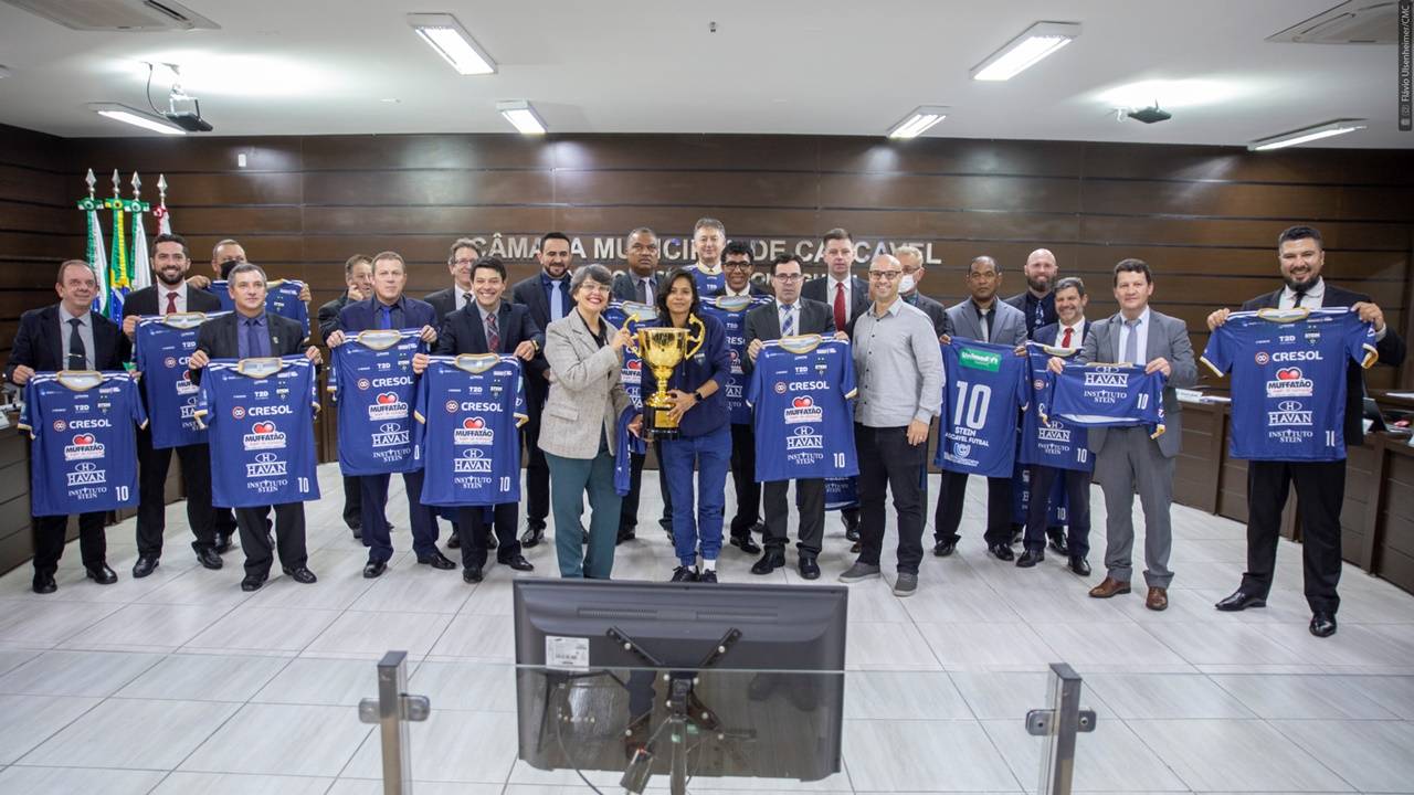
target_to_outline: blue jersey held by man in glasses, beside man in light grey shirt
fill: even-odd
[[[860,474],[854,393],[848,342],[807,334],[762,345],[747,386],[755,410],[756,481]]]

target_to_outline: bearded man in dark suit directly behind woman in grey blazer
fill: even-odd
[[[536,260],[540,272],[516,282],[510,289],[512,303],[530,308],[530,320],[536,328],[549,328],[551,323],[570,313],[570,238],[563,232],[547,232],[540,238]],[[550,467],[540,448],[540,417],[546,395],[550,390],[553,373],[540,356],[526,368],[526,407],[530,420],[525,424],[526,463],[526,532],[520,543],[534,546],[544,538],[546,516],[550,515]]]

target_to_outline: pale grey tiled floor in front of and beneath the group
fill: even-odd
[[[321,478],[338,495],[337,472]],[[406,550],[399,488],[390,518]],[[1284,545],[1270,607],[1219,614],[1212,603],[1243,569],[1243,529],[1175,508],[1169,610],[1144,610],[1140,593],[1092,600],[1099,492],[1087,581],[1053,557],[1032,570],[987,557],[980,497],[974,487],[959,553],[925,560],[918,596],[851,587],[843,770],[805,784],[703,778],[693,792],[1032,792],[1042,745],[1022,717],[1045,703],[1044,672],[1060,661],[1099,714],[1079,738],[1076,791],[1414,792],[1414,597],[1348,569],[1339,634],[1312,638],[1299,550]],[[617,579],[669,574],[658,511],[645,494]],[[373,795],[378,736],[356,704],[390,648],[410,652],[410,690],[433,703],[411,727],[419,794],[588,791],[573,771],[516,758],[509,571],[492,566],[472,587],[403,552],[363,580],[338,512],[337,497],[308,506],[320,576],[308,587],[277,576],[242,593],[239,552],[221,571],[198,567],[180,505],[146,580],[129,576],[132,522],[109,529],[116,586],[83,580],[76,549],[57,594],[30,593],[28,569],[0,579],[0,792]],[[850,563],[839,522],[827,526],[822,581]],[[537,576],[554,573],[551,545],[527,553]],[[728,547],[723,579],[803,584],[792,567],[752,577],[749,563]],[[587,775],[617,789],[617,774]]]

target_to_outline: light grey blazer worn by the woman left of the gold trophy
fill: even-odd
[[[601,320],[612,338],[614,324]],[[540,450],[564,458],[594,458],[600,431],[615,450],[618,417],[631,406],[619,381],[622,359],[612,347],[598,347],[578,310],[550,324],[544,332],[544,359],[554,373],[540,417]]]

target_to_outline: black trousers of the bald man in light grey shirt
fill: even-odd
[[[860,563],[880,564],[884,549],[884,497],[894,492],[898,513],[898,570],[918,574],[923,560],[923,504],[919,501],[918,468],[925,444],[909,444],[906,427],[854,424],[854,447],[860,460]]]

